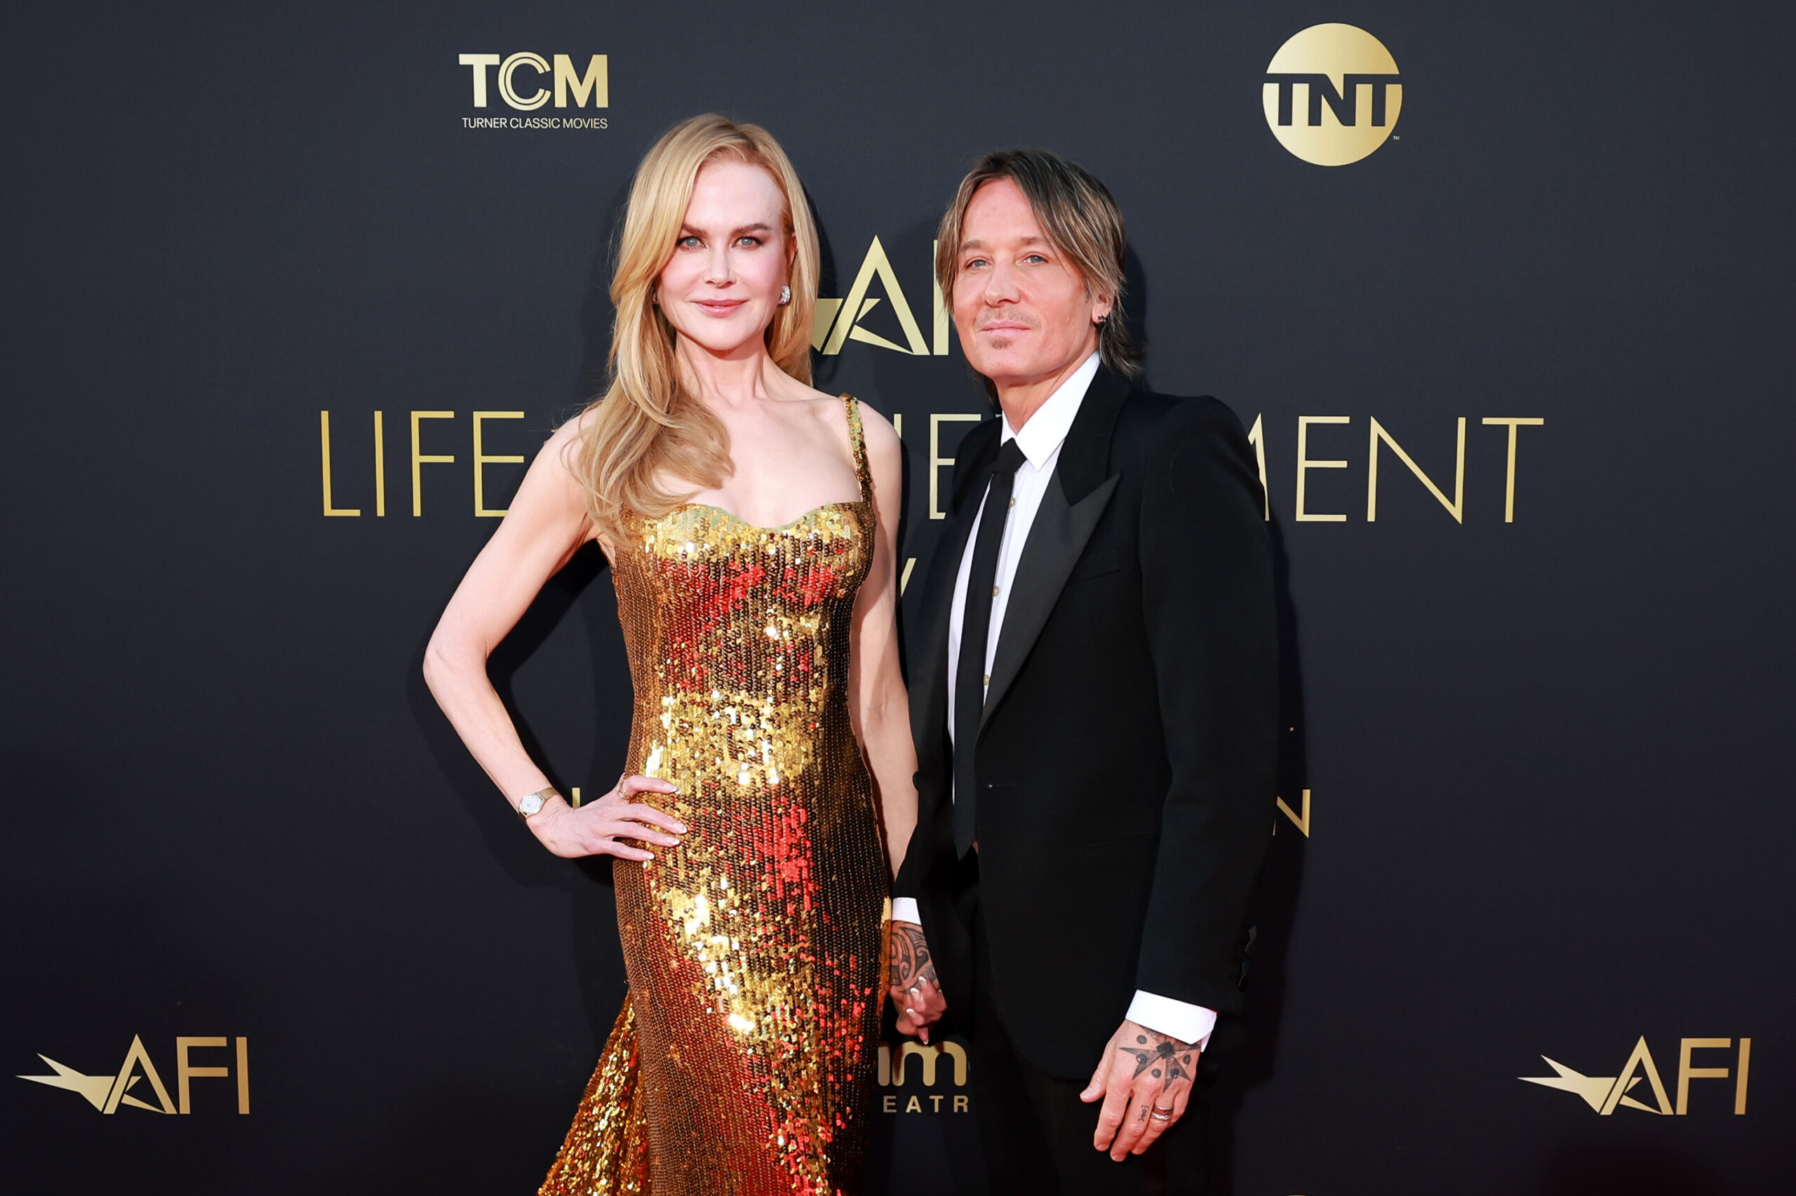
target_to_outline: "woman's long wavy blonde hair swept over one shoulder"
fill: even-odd
[[[785,196],[785,233],[792,257],[792,302],[767,325],[767,354],[781,370],[810,384],[812,312],[817,305],[817,226],[805,205],[790,158],[756,124],[717,113],[691,117],[668,129],[636,169],[630,203],[618,239],[611,278],[616,320],[611,332],[611,384],[582,411],[575,476],[585,487],[585,508],[600,535],[627,539],[632,517],[659,519],[699,488],[715,488],[735,472],[722,420],[688,393],[674,356],[674,325],[654,303],[656,282],[674,257],[686,205],[700,167],[713,160],[765,169]],[[697,483],[684,494],[657,485],[656,476]]]

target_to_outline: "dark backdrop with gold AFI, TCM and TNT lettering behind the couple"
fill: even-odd
[[[9,5],[0,1187],[535,1189],[623,997],[609,871],[420,654],[600,384],[630,171],[717,110],[805,180],[909,580],[988,409],[930,277],[986,149],[1110,185],[1151,383],[1252,431],[1291,729],[1223,1191],[1778,1191],[1792,43],[1778,4]],[[492,670],[603,790],[602,560]],[[954,1045],[893,1040],[878,1101],[873,1191],[982,1191]]]

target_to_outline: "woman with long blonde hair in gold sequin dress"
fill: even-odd
[[[715,115],[670,129],[630,189],[611,388],[537,454],[426,652],[542,846],[627,862],[630,993],[542,1192],[858,1187],[878,810],[902,853],[916,758],[898,436],[808,386],[815,291],[817,232],[774,138]],[[636,715],[623,779],[575,810],[485,659],[587,539],[612,566]]]

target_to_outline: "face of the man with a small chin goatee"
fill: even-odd
[[[1052,379],[1097,348],[1110,296],[1094,295],[1008,178],[973,192],[961,221],[954,327],[975,370],[1002,393]]]

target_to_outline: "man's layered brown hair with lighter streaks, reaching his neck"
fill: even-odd
[[[981,187],[1004,178],[1022,189],[1042,232],[1085,280],[1085,289],[1110,296],[1110,316],[1097,329],[1103,363],[1124,377],[1140,374],[1140,350],[1122,318],[1122,262],[1128,253],[1122,208],[1090,171],[1049,149],[990,153],[961,180],[936,237],[936,278],[943,296],[954,302],[966,207]]]

